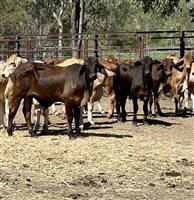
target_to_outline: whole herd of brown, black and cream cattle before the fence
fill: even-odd
[[[0,116],[1,127],[7,127],[13,135],[14,117],[23,103],[23,114],[29,133],[37,134],[40,114],[43,112],[43,131],[48,131],[49,110],[55,102],[63,103],[63,114],[67,117],[70,139],[80,134],[83,127],[83,112],[87,108],[88,121],[94,124],[92,110],[103,93],[108,95],[107,117],[114,114],[118,121],[126,121],[127,98],[133,102],[133,125],[137,126],[138,99],[143,101],[143,123],[148,116],[162,115],[159,104],[161,92],[172,91],[175,114],[186,114],[192,99],[194,112],[194,60],[192,54],[183,58],[176,55],[162,61],[145,56],[142,60],[118,61],[113,56],[98,60],[94,57],[59,60],[48,57],[43,61],[27,61],[17,54],[0,64]],[[31,123],[31,108],[34,103],[34,126]],[[56,111],[56,110],[55,110]],[[53,112],[55,112],[53,111]],[[75,122],[73,131],[72,122]]]

